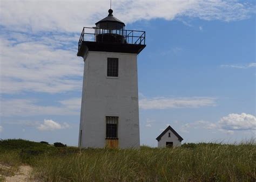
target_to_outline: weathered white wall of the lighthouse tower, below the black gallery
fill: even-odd
[[[118,78],[107,77],[107,58],[119,59]],[[105,147],[106,116],[119,117],[119,148],[139,148],[137,54],[87,54],[80,116],[83,148]]]

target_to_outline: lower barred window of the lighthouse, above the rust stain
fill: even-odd
[[[106,117],[106,138],[117,138],[118,117]]]

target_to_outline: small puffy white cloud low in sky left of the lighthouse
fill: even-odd
[[[59,129],[66,129],[66,128],[69,128],[68,123],[60,124],[52,120],[44,120],[44,123],[40,124],[37,127],[37,129],[41,131],[52,131],[52,130],[59,130]]]

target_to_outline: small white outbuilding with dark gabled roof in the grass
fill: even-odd
[[[180,146],[183,138],[169,125],[157,138],[158,148]]]

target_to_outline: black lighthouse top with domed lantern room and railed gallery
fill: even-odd
[[[84,27],[78,41],[77,56],[85,58],[88,51],[140,53],[145,48],[145,31],[125,30],[125,24],[109,15],[95,27]]]

